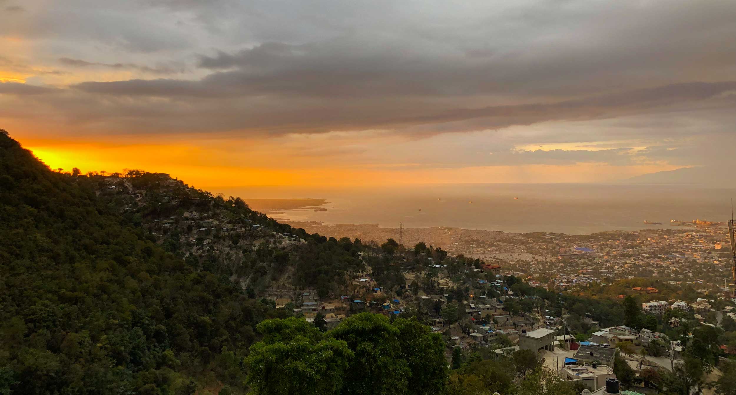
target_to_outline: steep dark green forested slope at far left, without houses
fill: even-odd
[[[0,394],[241,386],[275,310],[156,244],[96,187],[0,134]]]

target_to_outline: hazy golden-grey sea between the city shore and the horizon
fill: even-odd
[[[587,234],[681,228],[670,220],[725,222],[736,189],[622,184],[427,184],[394,187],[221,187],[249,199],[313,198],[327,210],[278,210],[284,221]],[[258,207],[254,207],[258,209]],[[277,209],[273,207],[271,209]],[[647,225],[644,221],[662,222]],[[693,228],[694,229],[694,228]]]

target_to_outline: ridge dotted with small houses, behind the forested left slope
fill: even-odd
[[[96,194],[165,250],[238,283],[266,289],[342,294],[347,272],[363,267],[361,242],[329,239],[253,211],[241,198],[194,189],[167,174],[131,170],[93,175]]]

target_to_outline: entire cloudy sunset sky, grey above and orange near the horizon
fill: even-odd
[[[0,0],[0,128],[53,168],[204,188],[718,180],[735,21],[732,0]]]

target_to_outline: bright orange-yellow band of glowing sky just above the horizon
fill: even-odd
[[[231,142],[227,142],[231,144]],[[217,186],[358,186],[395,184],[474,183],[578,183],[614,181],[643,173],[673,170],[660,164],[606,166],[528,164],[431,168],[407,166],[348,166],[329,162],[305,162],[294,167],[284,162],[284,152],[240,153],[222,147],[202,148],[186,144],[77,143],[36,140],[26,147],[52,169],[78,167],[108,173],[140,169],[169,173],[185,183],[208,189]]]

